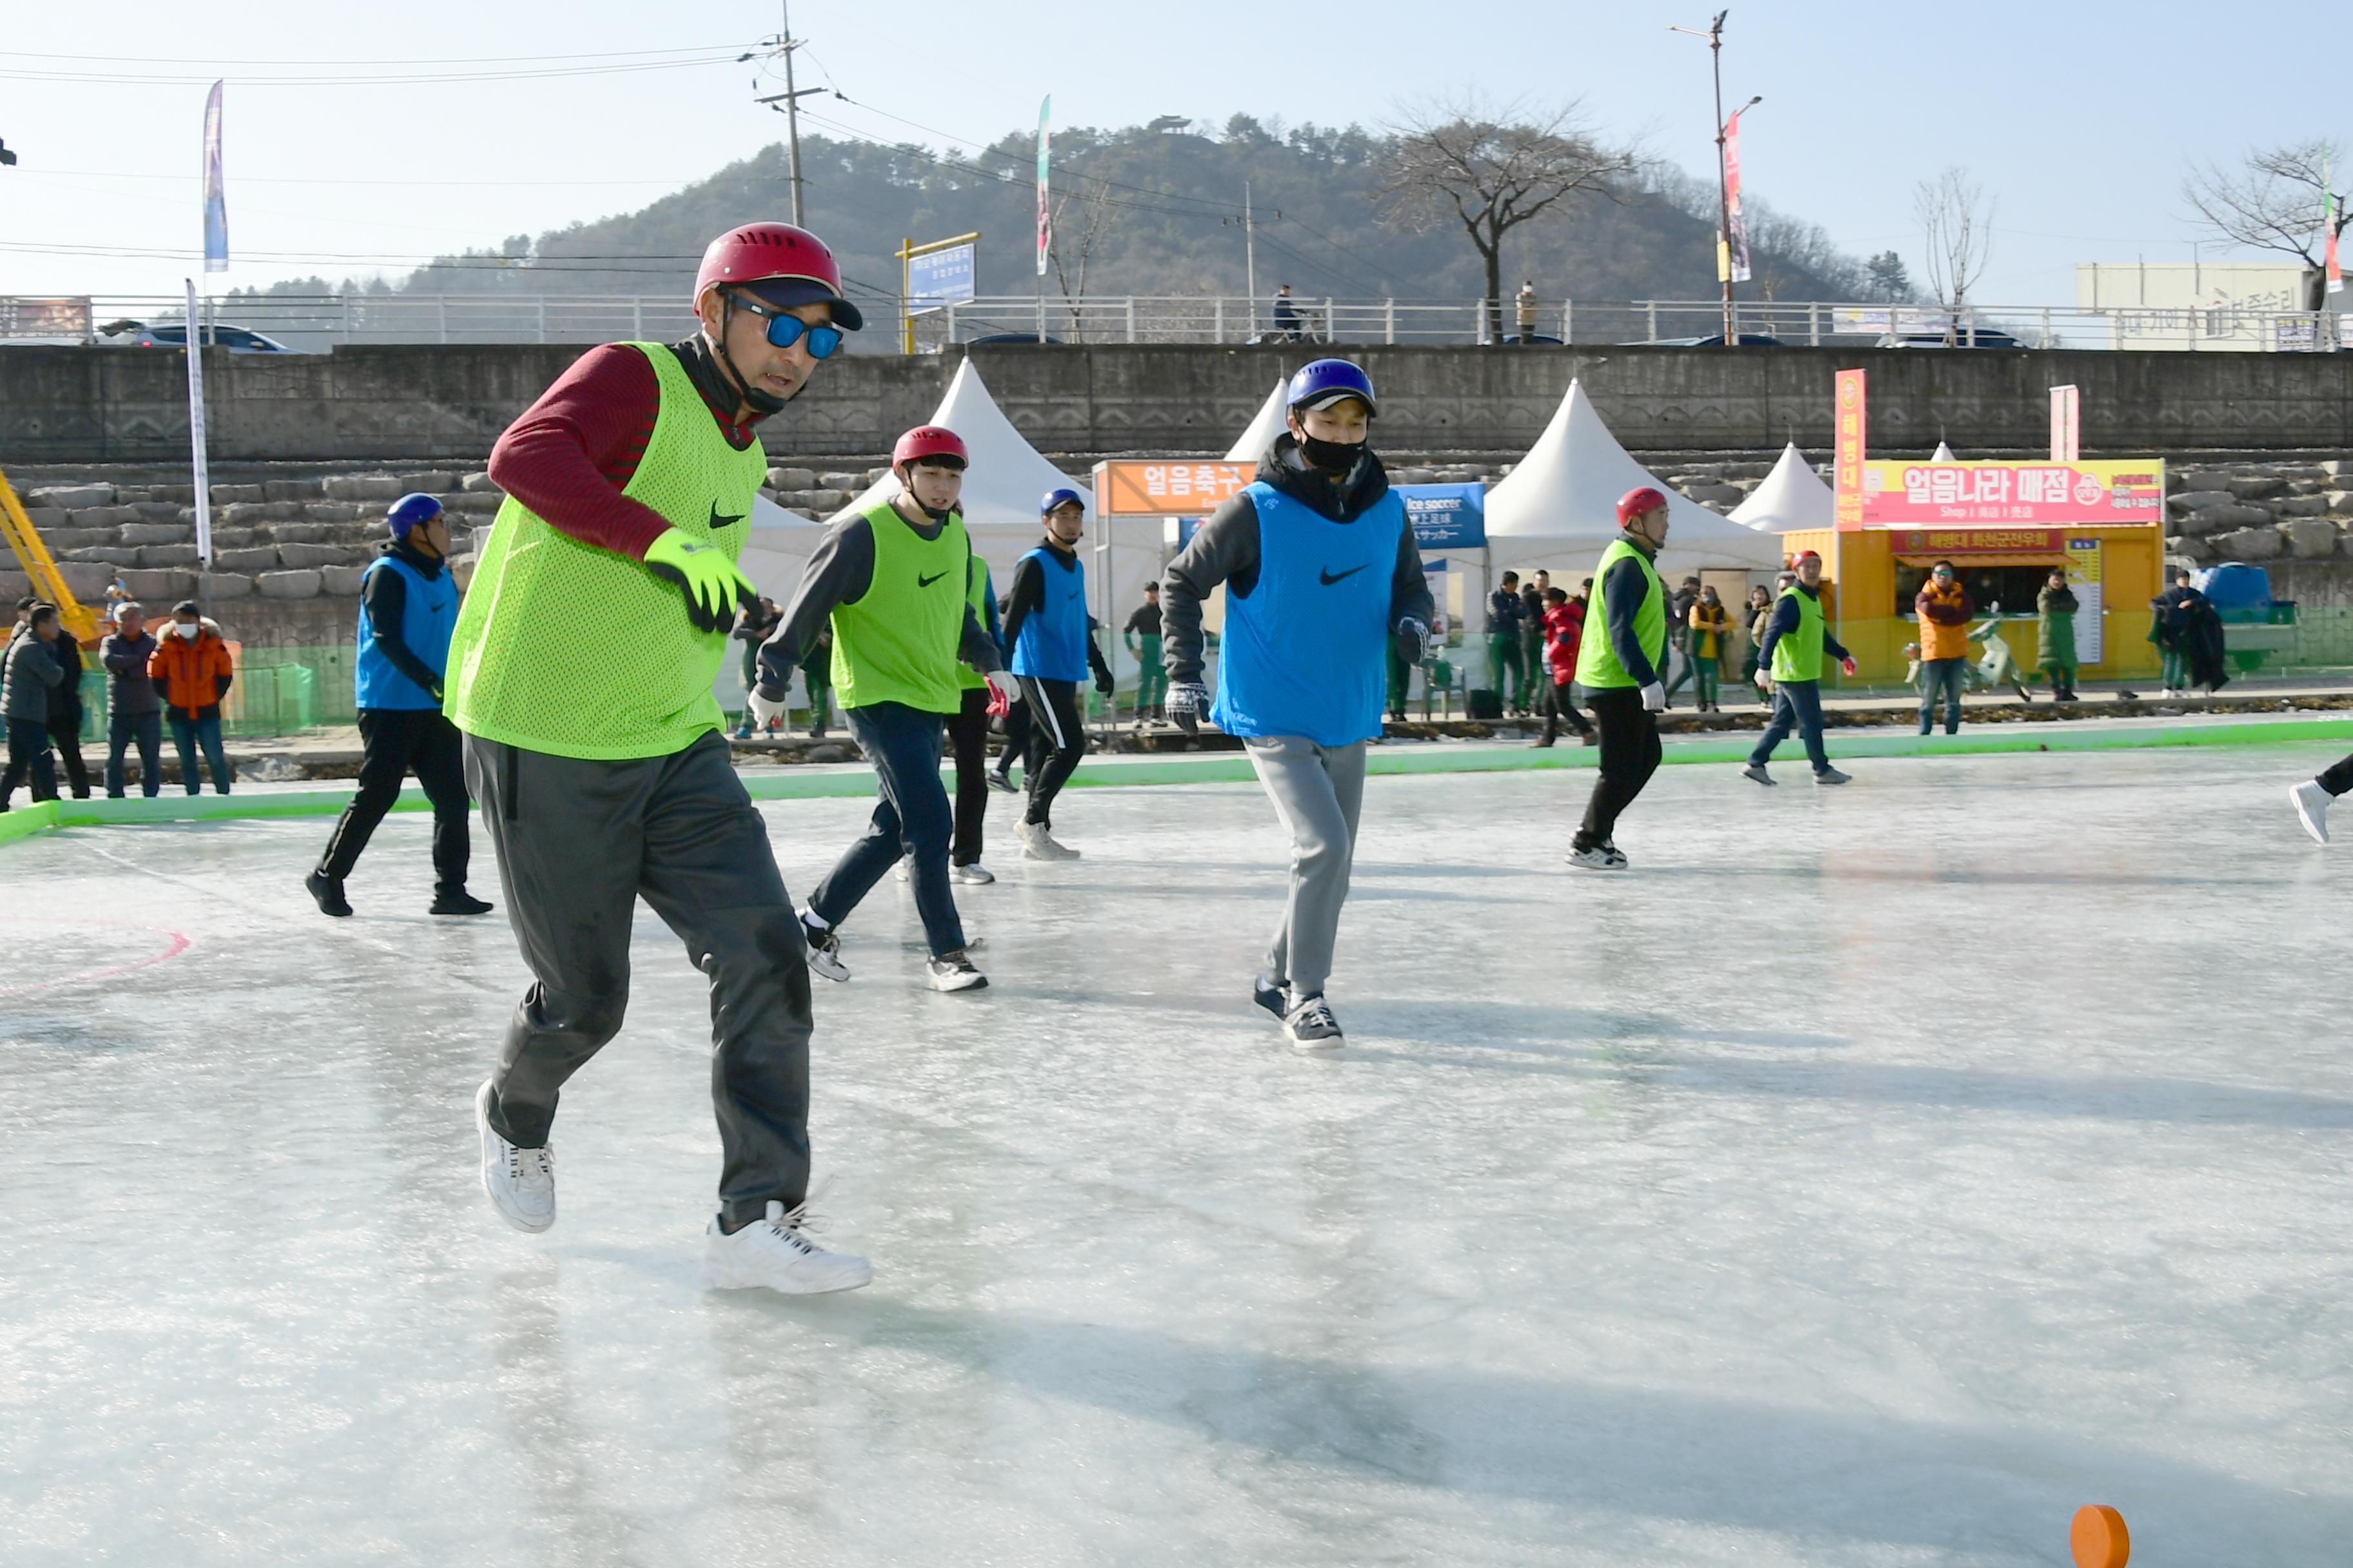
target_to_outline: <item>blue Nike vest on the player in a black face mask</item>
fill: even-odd
[[[1242,494],[1259,508],[1259,583],[1226,595],[1209,717],[1228,736],[1379,736],[1405,498],[1388,491],[1355,522],[1332,522],[1264,482]]]

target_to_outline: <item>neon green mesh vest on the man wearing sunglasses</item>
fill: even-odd
[[[727,444],[711,404],[661,343],[661,411],[621,489],[734,559],[767,477],[755,440]],[[696,632],[678,588],[642,562],[558,531],[506,498],[449,639],[449,722],[555,757],[668,757],[720,726],[711,682],[727,632]]]

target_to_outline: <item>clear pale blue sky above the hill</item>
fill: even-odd
[[[548,31],[558,16],[560,31]],[[1666,26],[1706,16],[1704,2],[1682,0],[793,5],[819,82],[974,141],[1026,127],[1045,92],[1061,125],[1160,113],[1224,122],[1238,110],[1379,125],[1400,103],[1478,89],[1529,103],[1581,96],[1602,129],[1638,134],[1692,172],[1713,167],[1708,56]],[[231,78],[240,261],[226,284],[341,277],[638,207],[781,139],[784,120],[751,103],[753,68],[736,63],[409,85],[315,78],[409,71],[388,61],[532,56],[414,66],[431,75],[544,71],[555,54],[727,54],[774,28],[767,0],[16,7],[0,54],[0,139],[21,158],[0,169],[0,294],[179,289],[191,263],[174,256],[45,252],[193,252],[212,75]],[[2353,115],[2332,108],[2318,61],[2313,12],[2261,0],[2224,12],[2169,0],[1991,0],[1965,12],[1781,0],[1732,7],[1725,96],[1765,94],[1744,134],[1748,188],[1824,223],[1847,252],[1897,249],[1918,273],[1911,188],[1958,162],[2000,202],[1979,299],[2071,303],[2075,261],[2191,259],[2186,160],[2337,136]],[[555,61],[595,63],[612,61]],[[268,75],[313,82],[256,80]],[[828,132],[925,139],[840,101],[812,108]]]

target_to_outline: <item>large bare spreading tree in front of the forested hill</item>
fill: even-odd
[[[1452,99],[1395,127],[1372,200],[1386,223],[1412,230],[1454,221],[1487,270],[1487,329],[1504,339],[1504,235],[1577,197],[1626,200],[1631,148],[1602,146],[1577,101],[1544,120],[1520,103]]]

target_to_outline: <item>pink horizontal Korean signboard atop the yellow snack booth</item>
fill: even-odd
[[[1861,527],[1871,529],[2158,524],[2165,517],[2165,461],[1866,461],[1859,503]],[[1845,505],[1845,491],[1840,491],[1840,505]]]

